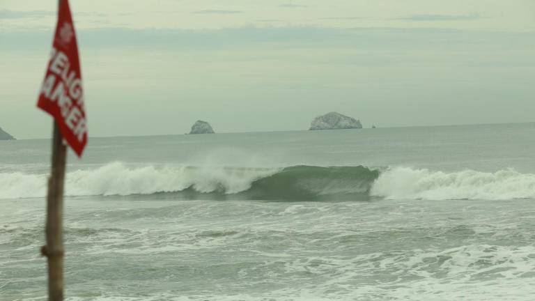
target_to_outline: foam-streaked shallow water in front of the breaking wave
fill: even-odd
[[[0,204],[1,295],[43,300],[42,201]],[[79,197],[68,300],[530,300],[533,204]]]

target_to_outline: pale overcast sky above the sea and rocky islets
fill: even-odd
[[[0,0],[0,127],[36,109],[56,0]],[[90,136],[535,121],[534,0],[71,0]]]

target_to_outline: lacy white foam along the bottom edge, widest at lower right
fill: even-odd
[[[277,277],[269,292],[254,291],[254,279],[242,279],[240,291],[222,295],[209,291],[206,294],[178,296],[171,292],[158,292],[139,297],[102,295],[91,300],[532,300],[535,293],[531,277],[535,268],[532,258],[534,247],[500,247],[493,245],[463,245],[450,249],[407,252],[377,252],[357,256],[300,256],[277,257],[251,268],[255,272],[267,269],[270,277],[296,281],[296,286],[285,286]],[[245,269],[247,270],[247,268]],[[248,274],[244,274],[248,276]],[[327,277],[327,275],[329,277]],[[394,276],[394,277],[392,277]],[[246,281],[247,279],[247,281]],[[319,280],[321,279],[321,280]],[[82,301],[84,298],[70,298]]]

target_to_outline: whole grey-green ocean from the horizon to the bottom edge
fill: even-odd
[[[0,300],[46,300],[50,141],[0,141]],[[535,123],[91,138],[67,300],[534,300]]]

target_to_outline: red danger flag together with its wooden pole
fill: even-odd
[[[48,300],[63,301],[63,185],[68,144],[82,157],[87,144],[82,72],[68,0],[58,0],[58,22],[37,107],[54,117],[52,164],[48,178],[46,245]],[[60,105],[61,102],[65,102]]]

